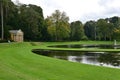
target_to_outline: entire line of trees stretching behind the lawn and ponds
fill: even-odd
[[[0,24],[4,23],[4,39],[8,40],[9,30],[21,29],[26,41],[80,41],[120,40],[120,17],[114,16],[97,21],[69,23],[65,12],[56,10],[46,19],[43,10],[36,5],[15,5],[11,0],[0,1]],[[3,12],[3,15],[2,15]],[[2,37],[2,25],[0,25]]]

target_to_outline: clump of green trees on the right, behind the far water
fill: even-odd
[[[85,34],[90,40],[114,40],[118,39],[115,30],[119,30],[120,18],[112,17],[88,21],[84,25]]]

